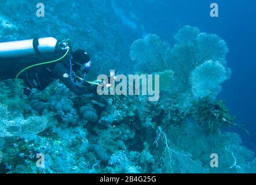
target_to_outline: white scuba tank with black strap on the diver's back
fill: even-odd
[[[58,40],[53,37],[0,43],[0,58],[23,57],[39,53],[54,53]]]

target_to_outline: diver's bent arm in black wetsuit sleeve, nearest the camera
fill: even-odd
[[[58,62],[54,68],[53,76],[57,79],[60,79],[61,82],[65,84],[67,88],[69,88],[76,95],[89,94],[90,91],[86,88],[79,88],[75,86],[74,83],[71,82],[69,71],[64,64]]]

